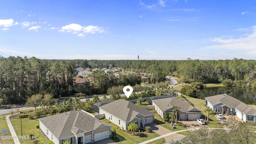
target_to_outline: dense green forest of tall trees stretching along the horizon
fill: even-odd
[[[93,73],[94,84],[74,86],[75,68],[121,68],[135,72],[121,76]],[[150,73],[149,83],[165,80],[165,76],[177,76],[179,82],[219,83],[239,86],[256,86],[255,60],[44,60],[35,57],[0,57],[0,104],[26,102],[33,94],[52,94],[54,98],[70,96],[76,92],[85,94],[106,93],[118,85],[140,84],[136,72]]]

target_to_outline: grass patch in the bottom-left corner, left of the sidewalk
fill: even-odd
[[[8,128],[7,122],[5,120],[5,118],[3,118],[2,116],[0,117],[0,130],[7,130],[7,133],[2,134],[2,132],[0,133],[0,136],[11,136],[11,132]],[[14,141],[11,139],[1,139],[0,140],[1,144],[13,144]]]

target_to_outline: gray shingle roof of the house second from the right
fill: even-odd
[[[152,102],[154,102],[162,112],[165,112],[166,110],[168,112],[173,110],[174,106],[180,107],[181,112],[202,112],[198,110],[197,108],[194,108],[194,106],[188,104],[184,100],[180,100],[176,97],[167,97],[167,98],[160,98],[160,99],[153,99]]]

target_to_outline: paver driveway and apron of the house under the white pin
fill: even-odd
[[[171,131],[156,124],[156,123],[151,123],[151,124],[145,124],[145,126],[150,126],[151,127],[151,130],[157,134],[159,134],[160,136],[164,135],[164,134],[168,134],[170,133]],[[182,134],[172,134],[170,136],[166,136],[164,137],[166,142],[170,142],[171,140],[176,140],[177,138],[181,138],[183,137],[184,135]]]

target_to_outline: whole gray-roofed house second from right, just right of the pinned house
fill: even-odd
[[[151,100],[152,105],[155,106],[156,112],[162,118],[164,118],[164,112],[174,112],[174,106],[180,107],[178,109],[178,117],[180,120],[196,120],[202,116],[202,111],[176,97],[158,96],[152,97]]]

